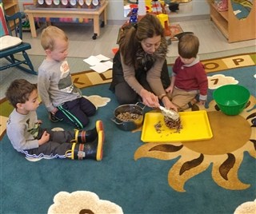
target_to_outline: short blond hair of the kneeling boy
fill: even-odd
[[[54,50],[57,39],[68,41],[65,32],[56,26],[47,26],[46,29],[42,30],[41,45],[44,50]]]

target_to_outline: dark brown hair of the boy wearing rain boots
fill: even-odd
[[[28,101],[30,94],[36,89],[36,84],[32,84],[24,79],[17,79],[10,83],[10,86],[6,90],[6,98],[16,109],[17,104]]]

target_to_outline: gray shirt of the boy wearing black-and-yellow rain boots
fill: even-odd
[[[38,129],[38,117],[35,111],[23,115],[14,109],[10,113],[6,132],[11,144],[18,152],[38,148]]]

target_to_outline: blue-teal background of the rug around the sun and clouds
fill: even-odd
[[[256,96],[255,66],[218,74],[234,77],[238,84],[246,86],[251,95]],[[86,96],[97,94],[111,99],[106,106],[98,108],[87,127],[93,128],[98,119],[105,124],[106,143],[100,162],[58,159],[30,162],[12,149],[6,135],[2,138],[1,213],[47,213],[54,203],[54,196],[61,191],[95,192],[102,200],[110,200],[122,207],[124,213],[132,214],[233,213],[239,204],[256,198],[255,137],[252,139],[254,151],[242,153],[242,163],[237,170],[238,180],[249,184],[247,188],[223,188],[213,180],[214,165],[210,164],[206,170],[186,181],[186,192],[179,192],[168,184],[168,172],[180,157],[166,161],[144,157],[134,161],[136,151],[145,145],[140,140],[141,132],[122,131],[110,120],[118,103],[108,88],[109,84],[104,84],[82,89]],[[212,93],[210,89],[209,101]],[[42,105],[38,108],[38,118],[46,127],[72,129],[61,122],[50,123]],[[67,210],[66,213],[70,212]]]

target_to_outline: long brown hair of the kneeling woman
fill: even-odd
[[[166,42],[161,22],[154,14],[146,14],[135,26],[126,27],[120,36],[119,48],[126,65],[135,65],[136,52],[140,42],[146,38],[161,36]]]

